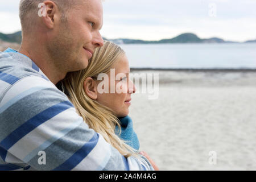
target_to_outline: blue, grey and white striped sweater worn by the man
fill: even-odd
[[[39,151],[46,164],[38,163]],[[26,169],[154,170],[89,129],[36,64],[9,48],[0,52],[0,170]]]

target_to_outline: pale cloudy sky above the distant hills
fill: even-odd
[[[19,31],[19,0],[0,0],[0,32]],[[105,0],[101,35],[108,39],[256,39],[256,0]]]

